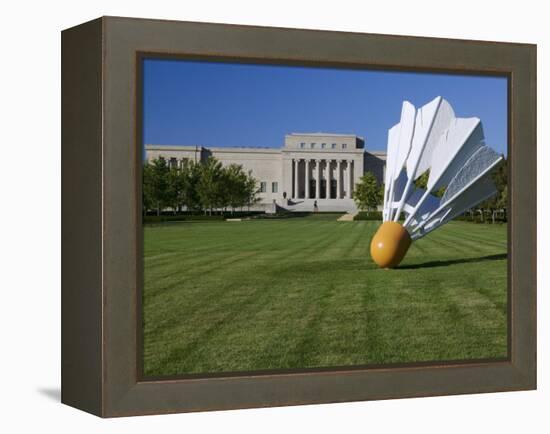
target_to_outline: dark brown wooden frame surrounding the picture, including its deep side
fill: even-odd
[[[508,77],[507,360],[140,376],[143,56]],[[101,417],[536,388],[536,45],[102,17],[62,32],[62,402]]]

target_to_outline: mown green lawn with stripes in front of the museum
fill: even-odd
[[[506,226],[451,222],[381,270],[378,225],[146,227],[145,375],[506,357]]]

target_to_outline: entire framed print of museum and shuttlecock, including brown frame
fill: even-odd
[[[62,33],[62,401],[536,387],[536,46]]]

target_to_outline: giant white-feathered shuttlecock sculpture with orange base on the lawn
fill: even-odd
[[[383,223],[370,246],[382,268],[396,267],[413,241],[497,192],[490,172],[502,156],[485,145],[478,118],[455,117],[441,97],[418,110],[403,102],[387,152]],[[426,188],[418,188],[426,172]],[[442,190],[441,197],[433,194]]]

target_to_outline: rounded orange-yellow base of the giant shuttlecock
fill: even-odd
[[[397,222],[384,222],[378,228],[370,243],[372,260],[381,268],[399,265],[411,245],[407,229]]]

